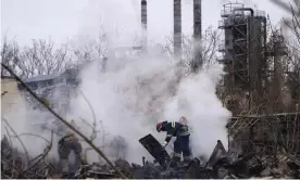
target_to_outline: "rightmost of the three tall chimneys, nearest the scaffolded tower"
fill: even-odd
[[[196,72],[202,65],[200,41],[202,39],[202,0],[193,0],[193,52],[195,59],[192,62],[192,69]]]

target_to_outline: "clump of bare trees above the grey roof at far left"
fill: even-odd
[[[50,40],[33,40],[30,46],[25,47],[4,40],[1,57],[21,77],[61,73],[74,65],[68,46],[65,43],[57,48]]]

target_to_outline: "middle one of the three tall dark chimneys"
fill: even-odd
[[[174,55],[182,57],[182,0],[174,0]]]

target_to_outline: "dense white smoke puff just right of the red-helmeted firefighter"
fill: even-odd
[[[211,64],[205,70],[185,78],[176,95],[166,104],[165,112],[172,119],[184,115],[191,128],[193,156],[209,157],[221,140],[227,146],[226,124],[230,117],[215,94],[223,66]]]

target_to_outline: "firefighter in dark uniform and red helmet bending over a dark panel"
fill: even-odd
[[[184,163],[188,163],[191,158],[191,152],[189,147],[189,131],[188,126],[177,121],[162,121],[157,125],[158,132],[166,131],[166,138],[162,144],[165,147],[173,137],[176,137],[174,142],[174,156],[173,165],[176,165],[182,159],[182,153],[184,156]]]

